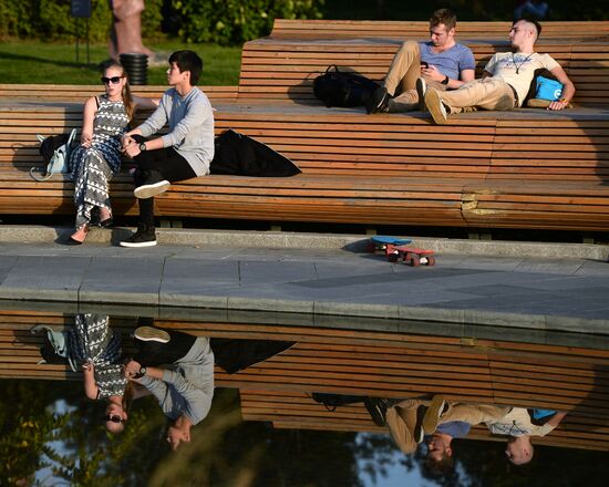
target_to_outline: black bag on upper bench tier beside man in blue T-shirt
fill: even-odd
[[[333,69],[333,71],[332,71]],[[326,106],[364,106],[379,83],[361,74],[339,71],[336,64],[313,81],[313,93]]]

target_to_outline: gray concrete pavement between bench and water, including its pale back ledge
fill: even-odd
[[[415,239],[435,267],[390,263],[364,236],[0,227],[0,299],[369,317],[609,334],[608,246]]]

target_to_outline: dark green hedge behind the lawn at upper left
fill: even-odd
[[[143,37],[178,35],[185,42],[239,44],[270,32],[276,17],[321,18],[323,0],[146,0]],[[1,0],[0,38],[74,39],[85,21],[70,15],[70,0]],[[91,42],[107,41],[112,13],[107,0],[92,0]]]

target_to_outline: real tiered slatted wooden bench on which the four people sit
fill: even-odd
[[[576,108],[463,114],[438,127],[422,113],[329,110],[311,94],[312,80],[329,64],[380,80],[404,34],[425,37],[424,22],[278,20],[269,38],[245,44],[236,91],[209,93],[218,132],[230,127],[251,135],[290,157],[303,174],[195,178],[156,198],[157,214],[607,230],[609,23],[567,24],[572,29],[546,23],[538,51],[551,53],[574,79]],[[507,28],[505,22],[460,24],[479,69],[495,51],[507,49]],[[24,168],[40,160],[33,134],[78,126],[80,106],[51,94],[53,103],[17,104],[7,100],[14,89],[28,87],[0,86],[0,214],[70,214],[71,184],[34,183]],[[90,91],[83,89],[83,96]],[[117,213],[135,211],[131,189],[130,179],[115,179]]]

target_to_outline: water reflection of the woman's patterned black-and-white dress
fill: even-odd
[[[71,362],[76,366],[85,362],[93,363],[99,400],[112,395],[122,396],[127,380],[123,377],[121,366],[121,334],[111,330],[110,317],[76,314],[75,322],[75,327],[68,334],[68,351]]]

